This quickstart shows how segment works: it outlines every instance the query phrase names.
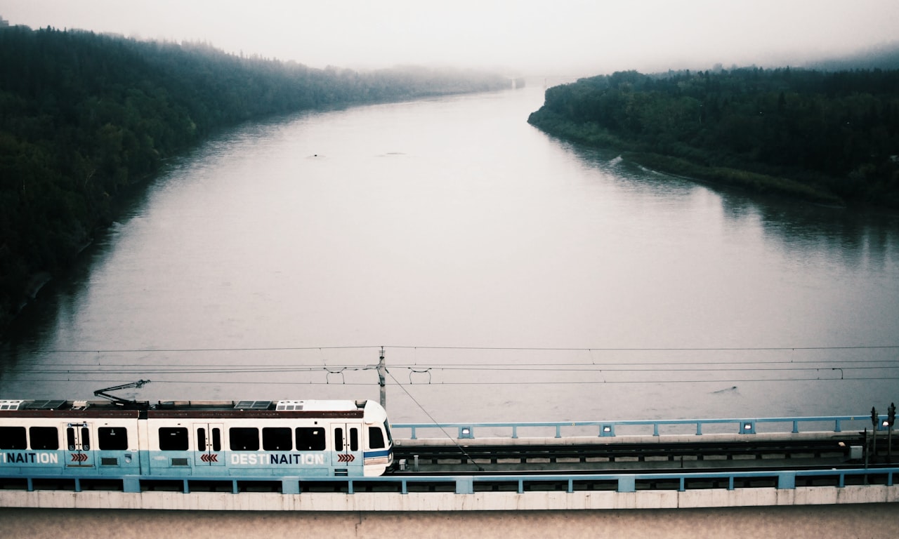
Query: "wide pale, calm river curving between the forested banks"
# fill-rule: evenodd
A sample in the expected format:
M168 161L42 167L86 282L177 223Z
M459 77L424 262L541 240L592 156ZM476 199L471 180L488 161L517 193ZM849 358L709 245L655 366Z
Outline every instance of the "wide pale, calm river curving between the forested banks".
M645 171L543 88L310 112L169 163L4 338L0 398L378 399L405 421L899 400L899 220Z

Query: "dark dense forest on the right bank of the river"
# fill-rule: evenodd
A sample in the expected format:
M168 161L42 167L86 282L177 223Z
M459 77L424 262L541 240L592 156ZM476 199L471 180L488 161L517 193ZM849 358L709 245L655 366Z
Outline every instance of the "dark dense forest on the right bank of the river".
M654 170L899 208L899 71L636 71L549 88L530 123Z

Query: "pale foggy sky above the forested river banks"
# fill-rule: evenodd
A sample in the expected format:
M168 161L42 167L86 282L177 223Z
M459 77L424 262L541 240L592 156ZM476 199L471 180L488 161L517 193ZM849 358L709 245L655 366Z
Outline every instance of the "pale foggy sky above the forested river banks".
M0 0L0 16L313 67L797 66L899 40L897 0Z

